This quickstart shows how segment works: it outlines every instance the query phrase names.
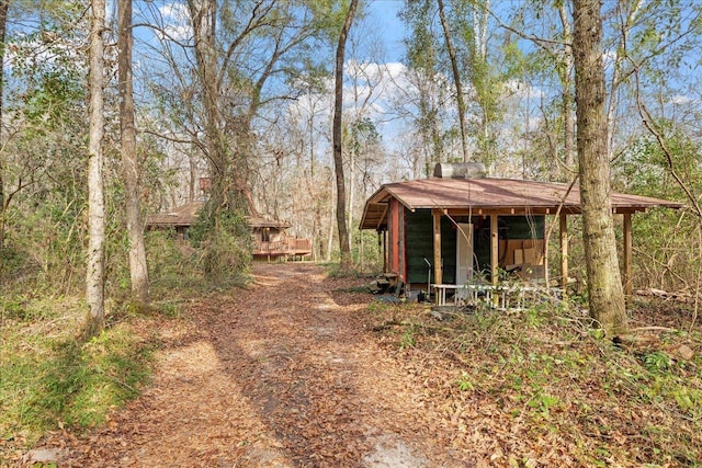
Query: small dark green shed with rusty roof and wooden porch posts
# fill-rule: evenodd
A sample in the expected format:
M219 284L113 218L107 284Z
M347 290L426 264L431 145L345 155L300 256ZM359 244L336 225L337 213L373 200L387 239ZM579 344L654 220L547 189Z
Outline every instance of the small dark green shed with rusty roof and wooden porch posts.
M559 283L566 286L566 220L581 214L577 184L491 179L482 176L482 171L455 170L446 164L438 165L434 174L444 176L384 184L365 203L360 228L381 236L386 273L398 275L412 288L426 285L427 290L432 284L461 286L476 274L497 286L499 269L548 277L544 242L546 227L555 216ZM632 215L682 205L612 193L611 206L612 213L623 218L623 282L630 298Z

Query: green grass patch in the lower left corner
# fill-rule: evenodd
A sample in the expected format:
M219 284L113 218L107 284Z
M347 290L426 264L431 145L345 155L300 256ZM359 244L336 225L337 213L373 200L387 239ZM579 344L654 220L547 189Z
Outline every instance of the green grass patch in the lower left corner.
M33 444L60 426L87 429L135 398L148 381L158 343L145 320L111 320L81 342L81 301L27 301L21 316L2 305L0 436ZM36 312L35 312L36 311Z

